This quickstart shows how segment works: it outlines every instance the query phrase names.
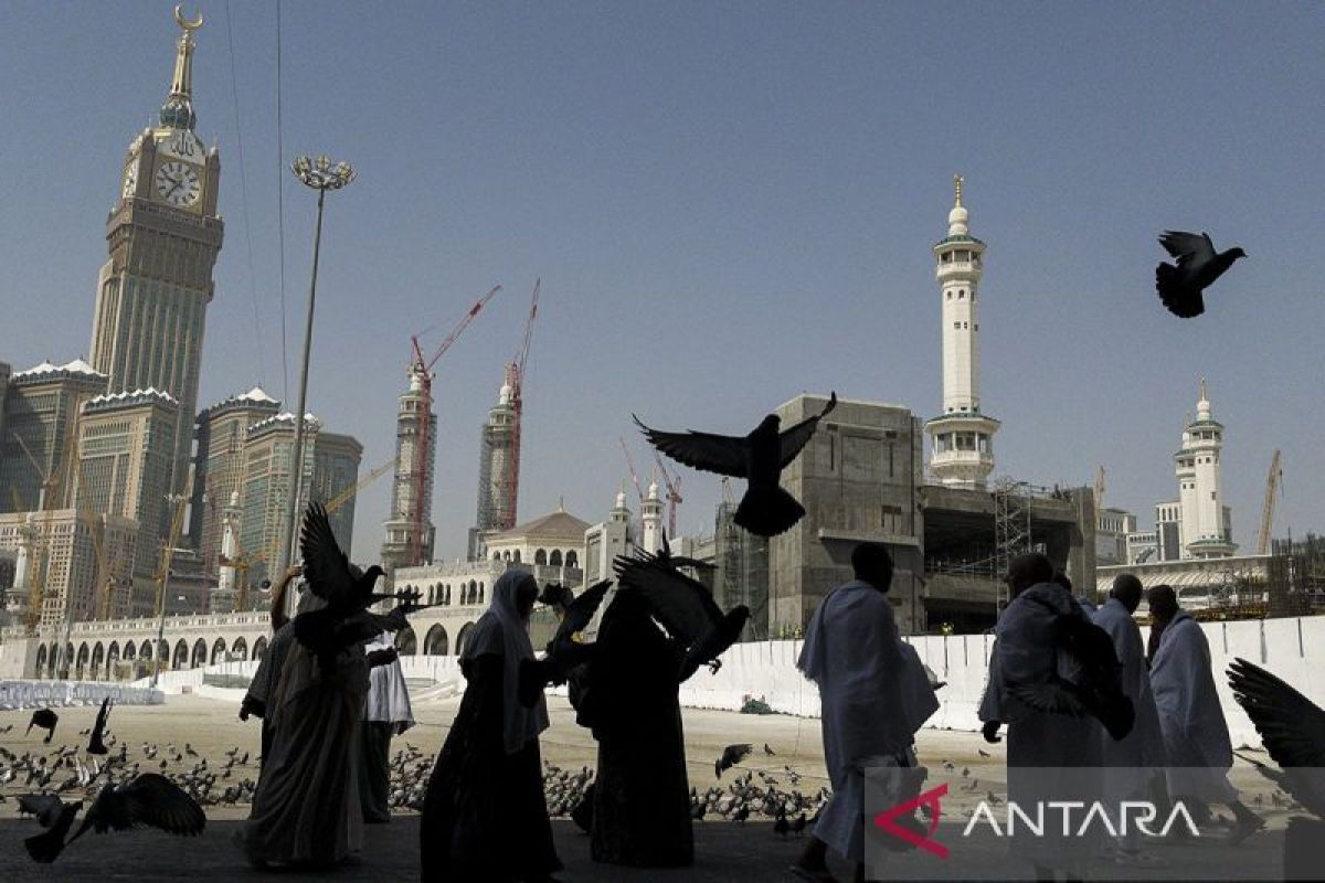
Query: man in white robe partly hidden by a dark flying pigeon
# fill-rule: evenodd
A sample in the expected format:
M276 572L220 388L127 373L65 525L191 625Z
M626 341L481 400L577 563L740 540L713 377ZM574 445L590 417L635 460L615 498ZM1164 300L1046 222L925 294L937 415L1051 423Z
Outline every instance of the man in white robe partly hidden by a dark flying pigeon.
M1086 614L1071 592L1053 581L1053 565L1044 555L1016 556L1004 579L1012 600L995 627L979 715L990 743L1000 741L999 725L1007 724L1008 800L1028 812L1035 812L1043 801L1093 800L1098 777L1089 770L1100 765L1098 724L1090 718L1037 711L1008 692L1012 687L1040 684L1052 678L1071 680L1077 673L1073 663L1059 654L1057 621L1060 617L1085 620ZM1034 772L1037 768L1072 769L1075 773L1071 778L1057 777L1053 788L1045 790L1047 774ZM1053 879L1055 870L1069 878L1080 876L1093 845L1056 839L1049 829L1052 826L1047 826L1045 837L1010 837L1008 846L1035 866L1040 879Z

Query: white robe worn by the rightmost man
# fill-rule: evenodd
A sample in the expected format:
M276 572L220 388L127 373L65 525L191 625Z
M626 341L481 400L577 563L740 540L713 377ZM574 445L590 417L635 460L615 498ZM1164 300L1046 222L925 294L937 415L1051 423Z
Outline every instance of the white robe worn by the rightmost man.
M1234 748L1215 692L1210 642L1185 610L1159 635L1150 684L1163 731L1169 794L1216 804L1238 800L1227 776Z

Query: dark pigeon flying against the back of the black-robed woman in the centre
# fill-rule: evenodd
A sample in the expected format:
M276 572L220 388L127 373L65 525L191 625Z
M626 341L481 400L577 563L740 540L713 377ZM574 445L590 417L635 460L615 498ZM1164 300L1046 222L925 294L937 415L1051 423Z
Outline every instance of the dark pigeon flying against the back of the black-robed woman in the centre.
M750 618L750 608L738 604L723 613L709 586L681 573L672 563L648 552L612 561L621 592L639 592L653 617L685 647L677 674L685 680L704 665L717 673L718 657L735 643Z

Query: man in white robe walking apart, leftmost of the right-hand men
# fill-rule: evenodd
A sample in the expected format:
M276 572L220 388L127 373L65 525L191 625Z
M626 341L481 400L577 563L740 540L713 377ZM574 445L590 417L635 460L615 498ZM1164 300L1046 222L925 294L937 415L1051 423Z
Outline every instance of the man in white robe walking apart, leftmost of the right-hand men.
M828 849L855 862L855 878L864 880L864 772L914 768L916 731L938 710L920 657L897 633L886 547L861 543L851 563L856 579L829 592L815 610L796 662L819 687L832 781L814 837L791 866L792 874L812 882L832 880Z

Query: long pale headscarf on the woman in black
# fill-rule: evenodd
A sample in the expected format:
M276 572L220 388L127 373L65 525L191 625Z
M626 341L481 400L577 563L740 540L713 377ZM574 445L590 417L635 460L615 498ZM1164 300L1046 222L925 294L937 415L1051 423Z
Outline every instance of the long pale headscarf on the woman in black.
M502 741L507 755L514 755L530 739L549 727L547 703L539 691L538 702L526 708L519 702L519 663L534 658L534 647L529 642L529 621L521 618L515 604L517 589L525 580L534 577L526 571L506 571L493 584L493 602L484 613L474 633L465 642L461 659L474 659L484 654L497 653L502 657Z

